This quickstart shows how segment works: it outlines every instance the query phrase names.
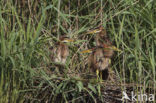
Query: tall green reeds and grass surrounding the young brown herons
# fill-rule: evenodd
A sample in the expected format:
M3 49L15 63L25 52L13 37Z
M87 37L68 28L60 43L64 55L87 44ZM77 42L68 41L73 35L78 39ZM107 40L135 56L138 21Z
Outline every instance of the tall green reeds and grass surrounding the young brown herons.
M155 10L154 0L1 0L0 103L104 102L107 86L82 76L89 68L80 53L95 46L85 33L99 25L123 51L111 65L119 87L155 94ZM63 34L76 41L60 74L48 48Z

